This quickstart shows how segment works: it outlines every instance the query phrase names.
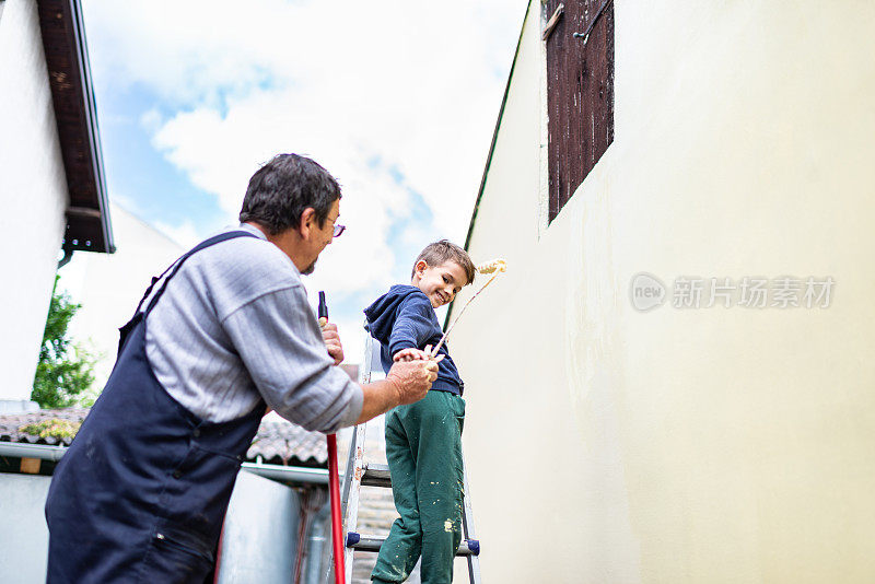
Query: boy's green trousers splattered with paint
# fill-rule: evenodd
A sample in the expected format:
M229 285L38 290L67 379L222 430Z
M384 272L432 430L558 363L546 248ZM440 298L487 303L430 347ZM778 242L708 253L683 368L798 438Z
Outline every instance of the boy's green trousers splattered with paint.
M423 584L453 581L462 541L464 421L465 401L438 390L386 414L386 457L400 517L380 550L373 582L404 582L420 554Z

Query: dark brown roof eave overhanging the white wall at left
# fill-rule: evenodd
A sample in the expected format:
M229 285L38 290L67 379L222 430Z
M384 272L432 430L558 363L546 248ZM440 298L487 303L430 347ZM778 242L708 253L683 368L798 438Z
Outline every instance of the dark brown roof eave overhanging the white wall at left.
M61 159L70 205L66 252L115 252L94 90L79 0L38 0Z

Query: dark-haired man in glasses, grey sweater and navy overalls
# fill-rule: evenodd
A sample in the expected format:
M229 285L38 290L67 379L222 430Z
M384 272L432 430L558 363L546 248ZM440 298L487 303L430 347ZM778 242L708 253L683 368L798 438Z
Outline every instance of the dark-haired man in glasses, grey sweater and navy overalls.
M342 232L339 214L328 172L278 155L249 180L241 226L153 281L55 471L49 583L201 583L267 408L334 432L424 397L434 361L363 387L334 366L337 328L320 332L300 273Z

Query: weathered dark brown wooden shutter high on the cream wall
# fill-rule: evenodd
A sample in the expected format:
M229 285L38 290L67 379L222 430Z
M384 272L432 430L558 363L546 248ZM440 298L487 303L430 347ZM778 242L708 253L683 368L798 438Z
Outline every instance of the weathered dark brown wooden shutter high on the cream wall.
M614 0L549 0L549 221L614 141ZM574 36L574 34L579 36Z

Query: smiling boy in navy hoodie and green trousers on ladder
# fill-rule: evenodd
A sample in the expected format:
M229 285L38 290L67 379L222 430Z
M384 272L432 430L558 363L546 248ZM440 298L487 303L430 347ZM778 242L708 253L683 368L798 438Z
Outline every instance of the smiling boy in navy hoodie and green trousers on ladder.
M429 244L413 265L412 285L393 285L364 311L384 371L394 361L428 359L428 348L443 335L434 308L450 303L474 273L459 246L446 240ZM371 574L376 584L407 580L420 553L423 584L453 580L462 540L464 384L446 343L439 353L438 379L428 395L386 413L386 457L400 517Z

